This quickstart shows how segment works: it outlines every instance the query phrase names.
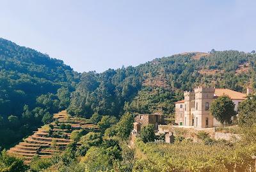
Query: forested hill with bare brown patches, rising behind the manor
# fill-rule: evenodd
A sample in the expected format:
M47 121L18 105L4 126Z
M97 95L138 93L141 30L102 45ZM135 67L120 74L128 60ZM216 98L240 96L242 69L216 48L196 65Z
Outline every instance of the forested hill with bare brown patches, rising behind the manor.
M137 67L109 69L104 73L83 73L72 93L68 111L72 115L122 116L135 113L171 115L174 102L184 90L198 85L245 92L255 87L256 54L212 50L163 57Z

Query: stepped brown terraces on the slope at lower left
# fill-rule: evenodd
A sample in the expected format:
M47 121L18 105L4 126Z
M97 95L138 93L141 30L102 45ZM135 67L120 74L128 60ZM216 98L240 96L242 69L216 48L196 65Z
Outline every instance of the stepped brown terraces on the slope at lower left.
M70 117L67 111L61 111L54 114L54 122L38 128L33 135L10 148L8 154L23 157L27 164L35 155L41 158L52 157L72 142L70 134L76 129L92 131L97 130L97 125L90 124L86 118Z

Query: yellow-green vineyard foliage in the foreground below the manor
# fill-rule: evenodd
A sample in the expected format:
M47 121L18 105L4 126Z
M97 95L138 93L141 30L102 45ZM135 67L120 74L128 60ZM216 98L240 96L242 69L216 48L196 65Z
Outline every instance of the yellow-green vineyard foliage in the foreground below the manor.
M137 142L136 152L134 171L248 171L255 164L256 146Z

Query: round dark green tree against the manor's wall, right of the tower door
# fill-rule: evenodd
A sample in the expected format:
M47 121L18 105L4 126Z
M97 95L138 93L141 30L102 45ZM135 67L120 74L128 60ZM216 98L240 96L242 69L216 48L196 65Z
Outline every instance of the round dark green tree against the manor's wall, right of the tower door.
M231 117L236 115L235 104L228 96L220 96L211 103L211 115L221 124L230 123Z

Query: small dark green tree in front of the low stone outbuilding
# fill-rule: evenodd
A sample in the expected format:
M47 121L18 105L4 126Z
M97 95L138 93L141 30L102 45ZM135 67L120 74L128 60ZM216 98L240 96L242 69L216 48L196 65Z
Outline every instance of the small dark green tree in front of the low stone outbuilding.
M154 141L156 138L156 134L154 131L154 125L148 124L141 129L140 138L144 143L149 141Z

